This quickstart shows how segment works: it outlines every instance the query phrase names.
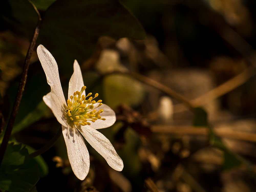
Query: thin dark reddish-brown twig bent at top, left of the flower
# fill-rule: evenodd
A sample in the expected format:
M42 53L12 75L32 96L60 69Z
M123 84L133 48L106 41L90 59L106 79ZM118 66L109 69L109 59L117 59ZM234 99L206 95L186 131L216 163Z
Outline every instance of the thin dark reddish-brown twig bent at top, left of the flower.
M33 5L33 3L32 3L32 5ZM27 55L26 55L26 58L25 58L24 66L23 66L22 77L20 79L19 88L18 88L18 92L17 92L16 99L15 99L15 102L14 102L13 110L12 110L12 113L10 115L10 119L9 119L9 122L7 124L7 127L6 127L6 131L4 133L2 144L0 146L0 165L2 163L2 160L3 160L3 157L4 157L4 153L5 153L10 135L12 133L15 118L16 118L17 113L18 113L19 104L20 104L22 94L23 94L23 91L24 91L24 87L25 87L25 84L26 84L26 80L27 80L27 72L28 72L28 67L29 67L29 64L30 64L30 59L31 59L33 50L35 48L35 44L36 44L36 40L37 40L37 37L38 37L39 29L40 29L40 26L41 26L41 21L42 21L41 16L40 16L39 12L37 11L36 7L34 5L33 5L33 7L35 8L35 10L38 14L38 24L36 26L33 38L31 40L29 48L28 48L28 52L27 52Z

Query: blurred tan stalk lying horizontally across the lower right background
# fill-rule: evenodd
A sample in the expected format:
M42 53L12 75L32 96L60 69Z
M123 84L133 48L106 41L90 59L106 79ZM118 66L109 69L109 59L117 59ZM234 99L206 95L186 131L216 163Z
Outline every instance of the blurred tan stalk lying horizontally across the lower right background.
M209 129L207 127L196 127L195 129L195 127L193 126L153 125L151 126L151 131L154 133L209 135ZM220 137L256 142L255 133L246 133L241 131L231 131L223 129L214 129L214 133Z

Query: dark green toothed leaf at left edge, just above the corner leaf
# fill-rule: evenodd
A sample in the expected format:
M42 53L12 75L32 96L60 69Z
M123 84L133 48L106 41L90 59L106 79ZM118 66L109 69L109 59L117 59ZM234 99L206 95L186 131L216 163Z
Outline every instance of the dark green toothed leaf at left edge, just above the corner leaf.
M15 170L28 162L28 150L25 146L22 147L22 144L14 145L14 143L9 143L0 167L0 172Z

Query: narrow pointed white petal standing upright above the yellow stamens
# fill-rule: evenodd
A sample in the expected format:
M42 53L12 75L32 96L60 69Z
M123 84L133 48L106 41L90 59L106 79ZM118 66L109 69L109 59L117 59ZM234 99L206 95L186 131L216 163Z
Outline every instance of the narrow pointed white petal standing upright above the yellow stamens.
M76 91L81 91L81 88L84 86L83 84L83 77L80 66L77 60L74 61L74 73L72 74L69 80L69 87L68 87L68 97L73 95ZM85 91L83 92L85 94Z

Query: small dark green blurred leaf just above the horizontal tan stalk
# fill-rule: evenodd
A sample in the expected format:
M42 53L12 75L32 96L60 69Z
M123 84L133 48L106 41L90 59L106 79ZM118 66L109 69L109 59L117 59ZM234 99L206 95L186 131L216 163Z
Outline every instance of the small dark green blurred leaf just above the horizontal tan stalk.
M208 126L207 112L201 107L194 108L194 111L193 126Z

